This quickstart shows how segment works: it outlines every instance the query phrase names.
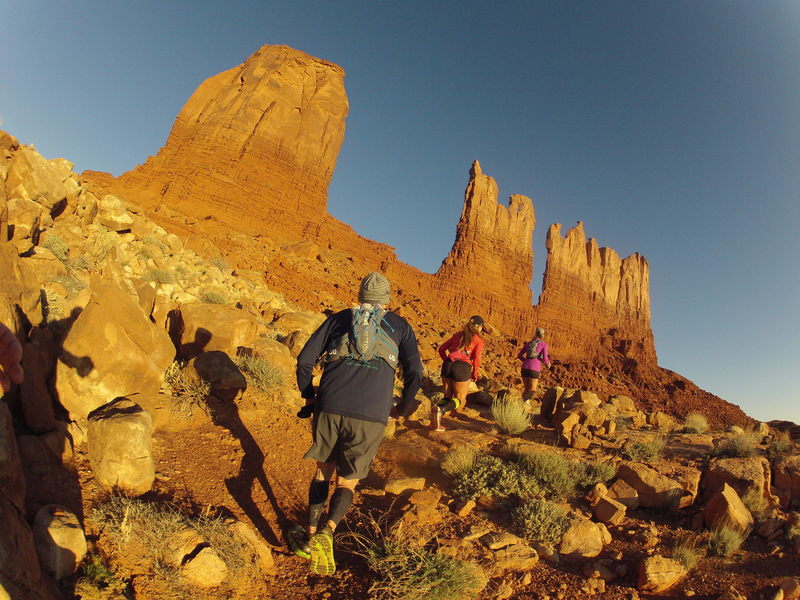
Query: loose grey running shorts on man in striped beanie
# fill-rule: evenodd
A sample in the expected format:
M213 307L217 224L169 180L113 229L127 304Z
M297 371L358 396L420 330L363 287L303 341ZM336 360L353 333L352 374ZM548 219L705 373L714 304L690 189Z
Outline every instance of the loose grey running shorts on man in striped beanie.
M314 442L303 458L336 462L339 477L364 479L385 430L382 423L320 412L314 416Z

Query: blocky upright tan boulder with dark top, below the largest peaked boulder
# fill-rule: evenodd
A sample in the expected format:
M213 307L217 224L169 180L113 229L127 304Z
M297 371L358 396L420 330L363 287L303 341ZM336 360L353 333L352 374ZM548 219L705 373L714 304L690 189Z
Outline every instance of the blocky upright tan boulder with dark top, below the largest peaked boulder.
M89 415L89 461L97 481L131 494L150 491L155 463L150 414L120 398Z

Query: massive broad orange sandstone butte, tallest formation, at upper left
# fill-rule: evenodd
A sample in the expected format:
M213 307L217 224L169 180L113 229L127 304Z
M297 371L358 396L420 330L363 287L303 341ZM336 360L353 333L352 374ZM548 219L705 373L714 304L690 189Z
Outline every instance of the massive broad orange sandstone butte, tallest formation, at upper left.
M257 217L302 233L325 214L348 108L343 69L264 46L200 85L156 156L116 182L95 177L144 207L191 206L202 216Z

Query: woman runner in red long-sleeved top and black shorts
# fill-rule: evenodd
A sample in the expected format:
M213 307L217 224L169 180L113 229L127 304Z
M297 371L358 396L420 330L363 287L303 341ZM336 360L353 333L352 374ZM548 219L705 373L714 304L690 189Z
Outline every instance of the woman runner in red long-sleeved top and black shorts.
M444 431L442 415L458 409L467 402L469 382L478 380L478 367L483 354L483 317L470 317L464 330L439 346L442 363L444 399L431 407L431 429Z

